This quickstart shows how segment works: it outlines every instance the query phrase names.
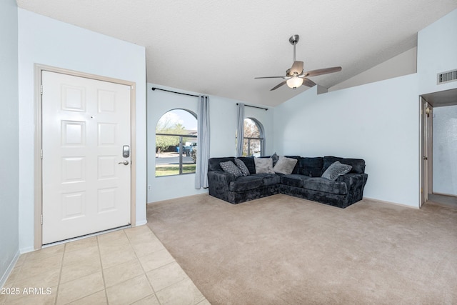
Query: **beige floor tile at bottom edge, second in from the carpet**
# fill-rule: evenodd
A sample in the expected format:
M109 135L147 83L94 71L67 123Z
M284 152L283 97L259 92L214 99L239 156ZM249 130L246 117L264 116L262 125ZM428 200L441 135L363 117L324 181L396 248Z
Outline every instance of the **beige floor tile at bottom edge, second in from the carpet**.
M131 304L154 294L146 275L136 276L106 289L110 305Z

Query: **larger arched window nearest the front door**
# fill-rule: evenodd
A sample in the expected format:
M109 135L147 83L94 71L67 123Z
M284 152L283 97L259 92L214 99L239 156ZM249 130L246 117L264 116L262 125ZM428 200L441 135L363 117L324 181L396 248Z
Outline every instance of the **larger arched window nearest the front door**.
M156 176L194 174L197 148L197 116L173 109L156 125Z

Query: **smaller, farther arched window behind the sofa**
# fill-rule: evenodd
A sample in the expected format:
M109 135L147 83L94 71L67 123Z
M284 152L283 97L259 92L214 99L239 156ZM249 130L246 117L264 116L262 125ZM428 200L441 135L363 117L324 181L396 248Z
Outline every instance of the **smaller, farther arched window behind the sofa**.
M262 124L253 118L244 119L243 156L263 156L264 135Z

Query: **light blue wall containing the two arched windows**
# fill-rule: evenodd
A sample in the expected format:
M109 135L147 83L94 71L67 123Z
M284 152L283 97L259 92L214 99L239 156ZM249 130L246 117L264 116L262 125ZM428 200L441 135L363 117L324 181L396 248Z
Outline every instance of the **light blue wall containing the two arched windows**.
M195 92L148 84L148 184L151 185L151 191L148 191L148 202L207 193L206 189L194 188L194 174L156 177L155 130L157 121L171 109L187 109L197 113L198 99L166 91L152 91L153 86L198 95ZM210 156L235 156L236 103L240 101L210 96L209 102ZM266 154L273 154L273 111L246 107L245 116L253 117L261 122L266 134Z

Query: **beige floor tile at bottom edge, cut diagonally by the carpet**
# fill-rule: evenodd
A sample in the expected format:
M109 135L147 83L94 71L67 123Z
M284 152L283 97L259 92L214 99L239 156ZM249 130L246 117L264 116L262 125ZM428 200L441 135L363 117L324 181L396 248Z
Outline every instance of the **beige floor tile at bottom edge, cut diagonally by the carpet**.
M205 299L191 279L179 281L166 289L156 292L156 295L162 305L195 305Z

